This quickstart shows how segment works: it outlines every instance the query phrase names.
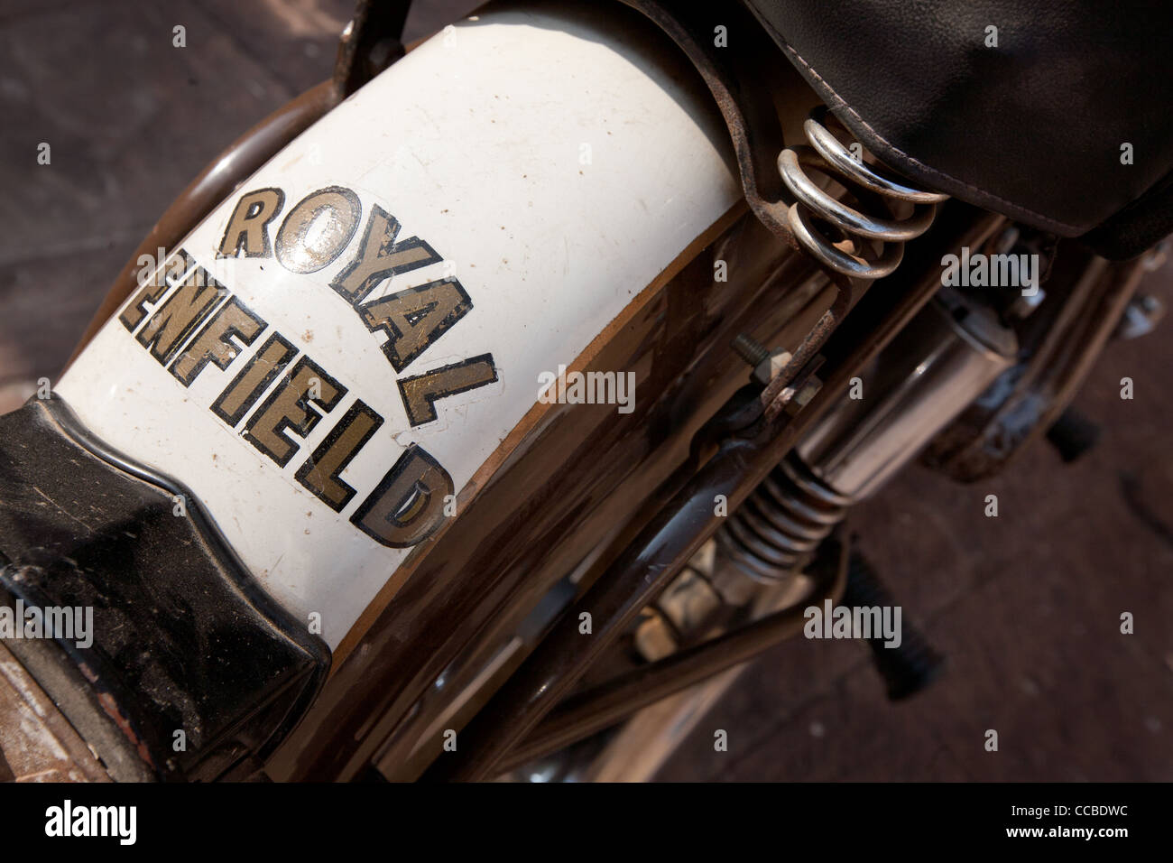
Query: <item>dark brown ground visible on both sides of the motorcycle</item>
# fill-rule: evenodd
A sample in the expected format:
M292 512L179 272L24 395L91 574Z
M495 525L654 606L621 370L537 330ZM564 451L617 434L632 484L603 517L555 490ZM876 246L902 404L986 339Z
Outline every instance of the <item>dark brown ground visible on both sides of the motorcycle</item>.
M418 2L408 38L475 4ZM328 75L348 0L6 0L0 9L0 410L54 379L155 216L224 144ZM187 48L171 46L176 25ZM52 144L52 164L36 148ZM1173 270L1148 279L1169 299ZM1099 447L957 486L913 468L854 527L949 656L889 706L865 648L784 645L672 780L1173 778L1173 338L1116 343L1077 399ZM1135 399L1118 397L1135 380ZM1001 517L982 514L998 495ZM1121 635L1121 612L1135 634ZM713 751L714 729L728 751ZM997 729L999 750L983 748Z

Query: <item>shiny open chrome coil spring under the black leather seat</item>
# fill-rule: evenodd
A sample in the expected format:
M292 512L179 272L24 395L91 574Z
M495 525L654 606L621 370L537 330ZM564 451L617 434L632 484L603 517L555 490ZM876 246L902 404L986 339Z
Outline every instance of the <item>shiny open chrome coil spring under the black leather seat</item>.
M856 160L846 146L827 129L827 108L821 106L811 112L802 130L809 147L788 147L778 155L778 171L782 182L798 201L787 211L787 222L795 240L821 263L836 272L857 278L874 279L887 276L900 265L904 256L904 243L921 236L933 223L936 204L949 196L920 189L907 180L876 166ZM815 168L832 177L860 202L874 202L886 211L886 216L873 216L848 207L827 194L807 176L804 166ZM897 218L889 201L911 203L913 213L907 218ZM829 222L842 232L842 240L850 240L857 254L836 247L836 243L815 227L814 216ZM862 257L862 244L855 238L879 240L883 247L875 261Z

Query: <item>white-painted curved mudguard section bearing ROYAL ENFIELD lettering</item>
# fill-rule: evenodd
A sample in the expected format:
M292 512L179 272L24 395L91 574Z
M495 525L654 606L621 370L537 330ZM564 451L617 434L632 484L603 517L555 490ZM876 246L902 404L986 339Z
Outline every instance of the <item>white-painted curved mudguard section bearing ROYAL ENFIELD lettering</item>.
M290 143L56 386L332 648L491 476L543 372L740 198L653 26L538 6L446 28Z

